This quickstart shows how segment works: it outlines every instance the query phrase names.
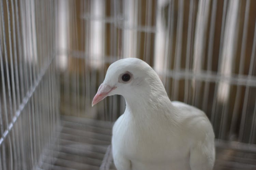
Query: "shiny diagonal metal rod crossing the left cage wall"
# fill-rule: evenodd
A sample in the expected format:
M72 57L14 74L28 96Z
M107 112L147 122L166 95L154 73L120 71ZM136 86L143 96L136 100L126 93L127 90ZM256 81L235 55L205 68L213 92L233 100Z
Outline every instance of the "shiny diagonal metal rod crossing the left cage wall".
M11 123L8 125L8 129L4 131L2 137L0 138L0 146L2 145L4 139L7 137L7 135L10 133L10 131L13 128L14 123L17 121L17 119L19 118L20 114L22 113L24 107L26 106L26 104L28 103L29 99L31 98L31 96L33 95L35 89L37 88L37 86L39 85L40 81L43 78L43 75L45 74L46 70L48 69L48 67L50 66L50 64L52 63L53 59L55 58L56 55L53 55L51 60L49 60L48 63L46 63L45 67L41 70L37 80L34 82L33 86L30 88L30 90L27 92L27 96L23 99L23 102L19 105L19 109L16 111L15 116L13 116Z

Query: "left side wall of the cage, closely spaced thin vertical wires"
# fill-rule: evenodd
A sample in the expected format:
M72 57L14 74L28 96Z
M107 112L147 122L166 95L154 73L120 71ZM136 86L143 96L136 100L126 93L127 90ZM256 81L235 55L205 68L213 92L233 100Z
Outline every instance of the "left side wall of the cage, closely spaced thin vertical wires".
M0 169L33 169L59 124L56 4L2 0L0 5Z

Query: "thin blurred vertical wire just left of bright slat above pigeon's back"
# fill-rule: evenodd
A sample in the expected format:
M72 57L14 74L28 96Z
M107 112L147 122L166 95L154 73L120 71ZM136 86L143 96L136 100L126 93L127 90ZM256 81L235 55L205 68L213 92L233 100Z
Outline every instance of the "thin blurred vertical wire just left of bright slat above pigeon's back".
M188 31L187 31L187 47L186 47L186 63L185 71L189 72L189 60L191 54L191 34L192 34L192 19L193 19L193 8L194 0L190 0L189 12L188 12ZM189 79L185 79L185 89L184 89L184 102L188 103L188 89L189 89Z

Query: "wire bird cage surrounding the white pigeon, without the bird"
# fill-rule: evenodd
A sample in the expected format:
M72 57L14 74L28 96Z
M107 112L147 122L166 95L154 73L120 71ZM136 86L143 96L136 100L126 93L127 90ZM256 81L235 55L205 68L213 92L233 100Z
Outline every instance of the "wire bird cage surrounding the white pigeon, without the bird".
M122 96L91 101L137 57L202 109L215 170L256 169L256 1L0 0L0 170L115 169Z

